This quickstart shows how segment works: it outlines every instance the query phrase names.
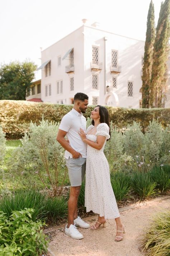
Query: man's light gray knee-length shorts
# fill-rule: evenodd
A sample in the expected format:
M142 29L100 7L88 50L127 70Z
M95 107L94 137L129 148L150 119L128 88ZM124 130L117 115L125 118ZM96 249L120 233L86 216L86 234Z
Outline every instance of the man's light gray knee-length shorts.
M71 187L81 186L81 182L84 180L86 170L86 158L70 158L66 159L66 165L69 169L69 179Z

